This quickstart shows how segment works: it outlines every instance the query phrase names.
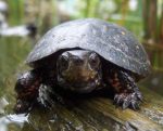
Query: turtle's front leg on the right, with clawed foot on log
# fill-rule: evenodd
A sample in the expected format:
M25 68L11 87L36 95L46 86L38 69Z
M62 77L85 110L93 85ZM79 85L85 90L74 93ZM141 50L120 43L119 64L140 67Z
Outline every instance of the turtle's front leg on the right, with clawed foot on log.
M142 95L134 78L123 70L114 70L112 75L109 81L116 92L114 103L123 109L127 107L138 109Z

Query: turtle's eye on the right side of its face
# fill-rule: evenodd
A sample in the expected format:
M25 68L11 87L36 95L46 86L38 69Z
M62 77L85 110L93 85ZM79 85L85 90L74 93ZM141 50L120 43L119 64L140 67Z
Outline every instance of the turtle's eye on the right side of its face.
M89 65L92 68L98 68L100 64L100 58L96 53L91 53L89 56Z

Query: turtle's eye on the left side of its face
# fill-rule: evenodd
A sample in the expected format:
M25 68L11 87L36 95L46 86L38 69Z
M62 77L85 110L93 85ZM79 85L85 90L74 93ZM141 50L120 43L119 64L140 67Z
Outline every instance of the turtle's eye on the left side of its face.
M59 58L59 66L61 70L65 70L68 67L68 56L67 55L61 55Z

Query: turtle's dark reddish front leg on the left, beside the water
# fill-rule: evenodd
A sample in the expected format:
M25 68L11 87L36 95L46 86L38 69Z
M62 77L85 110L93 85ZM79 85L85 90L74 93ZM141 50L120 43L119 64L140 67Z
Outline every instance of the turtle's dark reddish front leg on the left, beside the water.
M36 70L23 74L15 84L17 93L14 110L16 114L26 113L32 109L38 97L41 78Z

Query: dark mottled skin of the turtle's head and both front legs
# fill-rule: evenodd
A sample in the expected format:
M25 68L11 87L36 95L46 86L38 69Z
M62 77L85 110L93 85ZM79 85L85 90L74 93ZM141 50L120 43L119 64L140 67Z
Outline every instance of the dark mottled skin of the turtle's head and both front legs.
M123 108L137 109L142 100L136 80L129 71L105 63L92 51L64 51L59 55L55 67L50 71L35 68L18 78L15 86L17 114L33 107L39 95L39 87L46 83L58 84L65 90L79 93L89 93L103 86L111 86L115 91L114 103Z

